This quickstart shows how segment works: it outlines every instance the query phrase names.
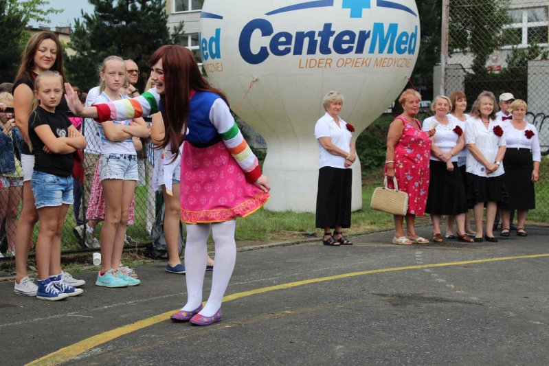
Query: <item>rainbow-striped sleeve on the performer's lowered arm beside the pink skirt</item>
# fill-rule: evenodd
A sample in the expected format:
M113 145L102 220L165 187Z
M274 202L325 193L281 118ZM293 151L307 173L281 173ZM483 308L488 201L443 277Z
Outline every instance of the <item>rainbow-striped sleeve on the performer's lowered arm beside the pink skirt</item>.
M232 127L227 132L221 133L221 139L223 139L232 157L234 157L240 168L244 171L246 180L249 183L257 181L261 176L258 158L251 151L251 148L249 148L234 119Z

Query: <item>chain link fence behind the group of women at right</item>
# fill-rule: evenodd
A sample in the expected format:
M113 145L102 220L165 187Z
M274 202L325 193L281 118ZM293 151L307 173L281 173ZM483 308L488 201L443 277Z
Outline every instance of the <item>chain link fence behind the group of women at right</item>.
M535 185L537 208L530 211L529 220L549 222L549 1L448 4L448 55L445 69L434 69L434 93L440 85L445 95L464 91L469 108L484 90L496 98L512 93L528 103L526 119L539 131L543 155Z

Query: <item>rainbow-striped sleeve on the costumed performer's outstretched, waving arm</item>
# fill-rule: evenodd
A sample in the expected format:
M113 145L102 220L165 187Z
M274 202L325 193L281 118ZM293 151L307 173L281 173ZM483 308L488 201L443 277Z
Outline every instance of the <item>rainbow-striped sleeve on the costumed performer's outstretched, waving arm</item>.
M96 104L97 122L123 121L152 115L159 111L160 95L156 89L150 89L137 98L115 100L113 102Z

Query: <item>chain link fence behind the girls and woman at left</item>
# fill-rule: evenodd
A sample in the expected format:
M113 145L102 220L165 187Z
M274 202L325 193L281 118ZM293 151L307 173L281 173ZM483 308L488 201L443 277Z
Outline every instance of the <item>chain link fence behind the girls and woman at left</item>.
M0 117L5 119L6 114L0 113ZM8 115L9 117L9 115ZM80 164L82 165L81 179L74 179L74 205L71 205L65 218L65 226L61 237L62 250L78 251L81 249L98 249L100 247L99 238L102 227L102 218L97 218L97 212L93 214L94 220L89 220L88 207L90 198L98 201L102 200L102 194L97 192L100 188L98 177L96 176L98 161L101 151L101 141L97 133L97 124L93 119L82 121L80 118L70 118L75 126L82 129L82 133L87 138L88 147L82 152ZM88 129L88 130L87 130ZM89 133L89 131L92 131ZM20 155L12 143L10 133L0 133L0 144L2 144L3 157L9 157L14 163L14 170L2 172L0 174L0 253L4 257L14 255L14 240L16 222L21 214L21 198L23 196L23 173L21 170ZM137 144L139 145L139 144ZM155 222L157 210L162 203L161 194L155 192L153 178L155 176L155 161L159 161L160 152L154 149L153 144L148 141L141 141L141 150L137 152L137 161L139 167L139 181L135 188L135 198L133 204L133 224L128 225L126 231L126 246L146 244L150 242L150 231ZM4 149L10 150L6 153ZM12 154L13 151L13 154ZM78 163L77 163L78 164ZM96 184L94 185L94 177ZM11 187L10 187L11 185ZM95 191L92 193L92 191ZM101 211L101 210L99 210ZM87 222L93 231L86 230L84 226ZM38 236L38 224L35 225L32 242L36 242Z

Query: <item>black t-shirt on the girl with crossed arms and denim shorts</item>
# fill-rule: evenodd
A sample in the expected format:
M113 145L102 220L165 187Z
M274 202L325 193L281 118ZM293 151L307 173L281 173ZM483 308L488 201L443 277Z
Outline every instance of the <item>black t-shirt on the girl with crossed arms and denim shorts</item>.
M29 118L29 138L34 151L34 170L56 176L69 176L72 174L74 158L69 154L47 154L44 152L44 143L36 135L34 128L47 124L52 128L55 137L67 137L71 122L63 113L51 113L41 106L32 111Z

